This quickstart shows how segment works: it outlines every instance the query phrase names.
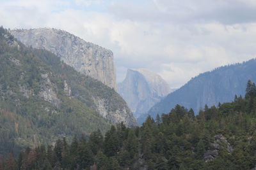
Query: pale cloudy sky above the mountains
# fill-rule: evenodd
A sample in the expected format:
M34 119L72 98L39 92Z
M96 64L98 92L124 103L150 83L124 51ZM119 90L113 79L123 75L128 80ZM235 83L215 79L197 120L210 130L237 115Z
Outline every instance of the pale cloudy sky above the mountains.
M117 81L146 68L177 88L256 56L255 0L0 0L0 25L54 27L113 51Z

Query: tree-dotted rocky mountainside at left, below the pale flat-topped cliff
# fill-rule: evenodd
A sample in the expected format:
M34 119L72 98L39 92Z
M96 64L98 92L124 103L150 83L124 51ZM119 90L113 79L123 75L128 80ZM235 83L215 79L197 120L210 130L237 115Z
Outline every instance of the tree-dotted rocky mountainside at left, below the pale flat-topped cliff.
M0 155L119 122L137 125L114 89L0 27Z

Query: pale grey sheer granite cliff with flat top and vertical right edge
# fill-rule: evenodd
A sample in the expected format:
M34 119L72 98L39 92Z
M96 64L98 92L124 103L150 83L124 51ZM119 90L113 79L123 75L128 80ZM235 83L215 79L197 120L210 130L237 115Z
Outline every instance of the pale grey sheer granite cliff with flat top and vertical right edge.
M49 50L76 71L117 89L113 53L110 50L58 29L17 29L10 33L24 45Z

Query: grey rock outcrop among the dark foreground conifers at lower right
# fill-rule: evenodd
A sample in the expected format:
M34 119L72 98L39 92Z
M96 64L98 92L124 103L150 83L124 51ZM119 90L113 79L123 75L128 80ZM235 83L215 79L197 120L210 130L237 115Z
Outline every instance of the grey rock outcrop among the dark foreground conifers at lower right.
M221 147L224 147L229 154L233 152L232 146L230 145L230 143L228 143L227 139L224 136L216 135L213 136L213 138L214 141L213 143L211 143L211 150L207 150L204 153L205 162L216 159L216 157L218 157L218 152Z

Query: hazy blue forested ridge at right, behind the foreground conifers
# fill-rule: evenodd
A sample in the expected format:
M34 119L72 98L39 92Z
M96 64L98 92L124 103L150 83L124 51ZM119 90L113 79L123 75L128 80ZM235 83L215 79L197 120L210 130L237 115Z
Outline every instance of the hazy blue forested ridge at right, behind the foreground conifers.
M157 113L168 113L176 104L193 108L197 114L200 108L204 108L205 104L212 106L219 102L230 102L235 95L244 96L244 89L249 79L256 81L255 59L240 64L218 67L213 71L199 74L154 105L138 121L143 122L147 115L156 117Z

